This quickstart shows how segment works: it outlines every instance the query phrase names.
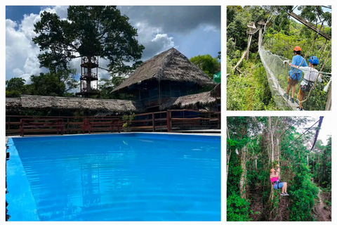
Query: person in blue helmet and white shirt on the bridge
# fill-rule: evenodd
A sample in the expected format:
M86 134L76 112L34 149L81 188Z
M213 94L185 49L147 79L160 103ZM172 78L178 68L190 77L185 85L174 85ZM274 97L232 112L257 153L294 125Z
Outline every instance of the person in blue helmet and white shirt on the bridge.
M315 69L315 66L319 64L319 60L316 56L311 56L309 58L309 67L303 67L303 66L296 66L288 62L288 64L293 68L298 68L298 70L301 70L304 72L304 77L302 82L300 82L300 89L298 90L297 98L300 101L300 106L298 106L297 110L302 111L302 101L303 97L305 96L305 92L310 91L312 89L312 86L315 83L315 80L319 82L322 82L322 74L318 72L318 70Z

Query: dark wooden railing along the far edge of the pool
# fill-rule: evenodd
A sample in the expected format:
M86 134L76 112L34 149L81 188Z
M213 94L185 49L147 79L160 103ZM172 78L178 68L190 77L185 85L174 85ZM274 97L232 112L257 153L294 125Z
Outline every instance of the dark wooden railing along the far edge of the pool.
M131 122L132 131L180 131L220 129L220 112L198 110L167 110L155 113L136 114ZM52 124L54 120L58 124ZM23 122L29 122L29 124ZM124 122L121 116L58 117L6 115L6 136L27 133L61 134L91 133L93 131L121 131ZM62 128L62 129L61 129ZM61 132L62 131L62 132Z

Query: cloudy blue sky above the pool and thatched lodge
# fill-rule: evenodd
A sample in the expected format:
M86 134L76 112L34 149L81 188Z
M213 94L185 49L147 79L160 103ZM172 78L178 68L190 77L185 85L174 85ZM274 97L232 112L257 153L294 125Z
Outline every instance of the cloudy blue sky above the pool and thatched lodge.
M145 61L176 48L187 58L210 54L218 56L220 46L220 6L117 6L129 23L138 30L138 42L143 44ZM67 18L67 6L6 6L6 80L22 77L29 84L31 75L48 72L39 67L39 46L34 23L41 20L40 13L57 13ZM107 61L100 60L107 68ZM80 70L80 59L70 66ZM99 78L109 78L105 70L98 70Z

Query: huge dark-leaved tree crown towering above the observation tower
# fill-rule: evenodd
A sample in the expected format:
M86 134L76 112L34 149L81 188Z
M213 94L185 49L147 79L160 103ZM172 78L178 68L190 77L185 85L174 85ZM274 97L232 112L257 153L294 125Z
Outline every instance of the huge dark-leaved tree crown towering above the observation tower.
M93 57L104 58L112 73L126 72L133 66L125 63L139 60L144 49L136 40L137 30L116 6L70 6L67 20L44 11L34 28L37 37L32 40L43 52L40 65L51 72L66 70L78 57L89 63Z

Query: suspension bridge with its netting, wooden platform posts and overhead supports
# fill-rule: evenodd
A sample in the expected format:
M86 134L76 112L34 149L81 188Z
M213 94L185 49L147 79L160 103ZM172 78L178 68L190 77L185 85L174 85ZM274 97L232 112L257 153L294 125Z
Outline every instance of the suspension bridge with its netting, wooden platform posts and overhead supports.
M306 26L310 27L308 26L308 24ZM277 54L272 53L271 51L265 49L265 46L263 46L263 30L265 30L266 25L263 21L258 22L258 27L256 27L253 22L249 23L248 27L249 27L249 31L247 32L247 34L249 34L249 38L248 38L247 50L243 53L241 60L239 60L239 63L241 63L244 57L248 59L249 46L251 44L252 36L256 32L258 32L258 53L260 56L260 60L263 63L263 67L265 68L265 72L267 73L267 80L270 86L272 97L279 109L296 110L296 108L298 108L298 103L299 103L298 99L297 101L292 103L290 99L286 99L284 97L284 94L286 93L286 86L288 84L287 79L288 79L289 70L290 70L289 65L284 64L284 60L289 60L289 59L283 56L278 56ZM329 38L331 39L329 35L325 34L324 32L320 32L320 29L317 30L317 27L315 26L310 27L310 29L315 30L315 32L317 32L316 37L312 43L312 46L314 46L315 41L318 37L318 34L321 34L324 38L326 38L326 41ZM310 52L311 49L312 47L310 47L309 51L307 51L307 53L305 54L304 56L305 59L307 58L308 53ZM321 49L322 51L325 51L326 45L324 44L324 48L321 48ZM331 53L331 50L329 53ZM319 65L320 70L321 70L319 72L322 74L323 85L320 85L320 86L313 85L312 89L310 89L310 92L306 94L305 100L302 101L305 109L331 110L331 73L322 72L324 65L326 64L326 60L329 58L329 53L327 54L323 65L322 66ZM237 65L234 67L234 70L237 69L239 63L237 63ZM298 82L298 84L299 83L300 81ZM317 82L315 82L315 84L316 83ZM324 91L323 91L323 87L324 87ZM297 97L298 89L299 89L299 85L296 86L296 93L294 94L294 99L296 99ZM317 96L319 96L319 99L320 99L319 101L317 100ZM322 101L322 99L324 99L325 101L324 100Z

